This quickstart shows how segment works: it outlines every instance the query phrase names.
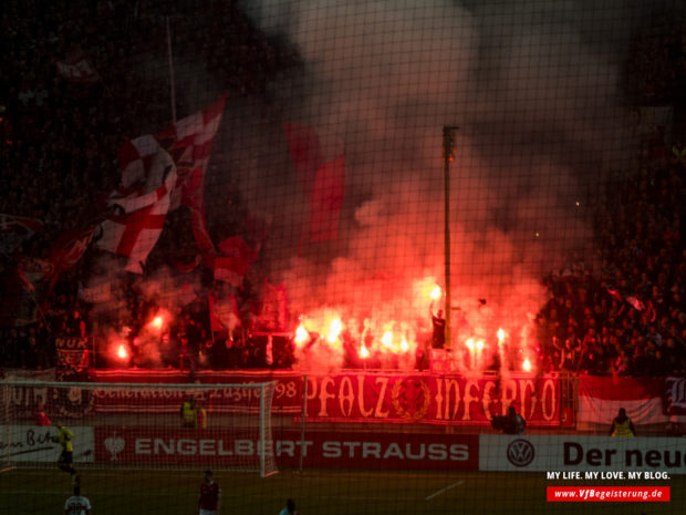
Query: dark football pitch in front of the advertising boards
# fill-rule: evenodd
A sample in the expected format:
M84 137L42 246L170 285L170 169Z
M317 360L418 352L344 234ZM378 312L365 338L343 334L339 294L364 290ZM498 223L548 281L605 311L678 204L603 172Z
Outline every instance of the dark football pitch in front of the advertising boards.
M83 470L82 495L92 515L197 515L201 471ZM545 501L544 473L282 471L215 472L220 514L278 515L285 499L301 515L360 514L683 514L686 477L659 482L671 502ZM554 485L589 485L558 482ZM597 483L595 483L597 485ZM603 486L612 483L602 482ZM626 485L626 483L614 483ZM636 483L636 485L638 485ZM644 482L641 485L657 485ZM0 513L58 515L71 495L70 476L56 470L17 468L0 474Z

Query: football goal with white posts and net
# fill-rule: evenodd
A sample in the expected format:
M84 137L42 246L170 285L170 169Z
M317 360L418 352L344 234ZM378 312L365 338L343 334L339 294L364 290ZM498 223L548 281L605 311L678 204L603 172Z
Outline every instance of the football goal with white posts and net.
M58 428L74 467L277 472L273 382L112 384L9 381L0 385L0 464L54 467Z

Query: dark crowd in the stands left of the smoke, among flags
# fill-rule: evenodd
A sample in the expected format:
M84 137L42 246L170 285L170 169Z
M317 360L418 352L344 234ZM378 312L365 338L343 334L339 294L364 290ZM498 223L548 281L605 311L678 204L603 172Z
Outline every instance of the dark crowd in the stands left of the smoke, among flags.
M46 276L60 235L103 219L105 199L121 178L115 156L122 142L168 125L169 84L150 79L168 75L168 38L176 59L205 63L220 91L264 101L270 78L294 59L226 1L10 1L1 20L0 214L11 215L4 226L13 217L41 223L32 237L0 249L2 311L12 311L19 297L27 297L11 286L17 270L22 278L30 272ZM153 65L163 70L155 75L149 72ZM177 109L187 111L183 96ZM194 245L188 213L172 213L148 266L183 261ZM2 317L0 368L54 367L55 337L84 337L96 329L92 306L80 296L93 262L89 249L49 288L34 281L33 291L31 285L35 322L14 325ZM141 302L135 282L134 278L124 288L127 319L115 322L134 330L153 308ZM211 289L211 277L205 282ZM252 309L248 290L236 292L246 310ZM190 348L199 352L206 334L198 320L207 313L190 315L179 316L172 337L189 334ZM188 326L199 330L187 331ZM239 346L248 347L245 339ZM236 367L258 359L252 349L230 354L227 360Z

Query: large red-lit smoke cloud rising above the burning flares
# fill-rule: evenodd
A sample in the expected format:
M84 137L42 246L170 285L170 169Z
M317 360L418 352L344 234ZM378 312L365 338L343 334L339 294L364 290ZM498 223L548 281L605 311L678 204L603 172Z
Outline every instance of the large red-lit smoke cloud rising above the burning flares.
M285 120L345 145L337 243L303 247L293 236L306 217L302 197L280 206L292 224L273 268L297 313L340 307L427 330L428 302L414 285L444 271L445 125L459 126L450 284L460 338L495 339L498 327L518 338L545 300L542 275L574 254L592 258L597 182L630 157L620 74L637 8L264 0L243 9L302 59L276 84Z

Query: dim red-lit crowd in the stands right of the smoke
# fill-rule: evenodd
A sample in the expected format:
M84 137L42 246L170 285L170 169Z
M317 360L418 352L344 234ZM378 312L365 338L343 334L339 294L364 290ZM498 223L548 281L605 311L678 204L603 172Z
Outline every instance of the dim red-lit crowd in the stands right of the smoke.
M547 278L537 319L542 367L588 374L686 373L684 167L623 177L597 213L600 268Z

